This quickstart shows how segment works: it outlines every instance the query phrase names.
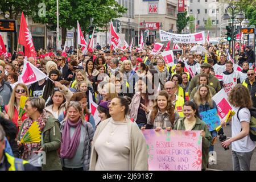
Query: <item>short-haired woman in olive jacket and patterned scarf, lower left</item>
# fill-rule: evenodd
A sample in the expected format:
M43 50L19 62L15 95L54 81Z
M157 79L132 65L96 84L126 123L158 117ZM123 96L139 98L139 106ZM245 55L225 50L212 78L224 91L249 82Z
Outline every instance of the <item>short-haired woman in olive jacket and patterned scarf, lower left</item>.
M22 159L28 160L30 164L37 167L38 170L51 171L61 170L59 148L61 144L61 135L59 121L52 117L47 117L44 111L45 101L40 97L30 97L26 101L25 108L28 118L22 123L18 134L18 146L24 147ZM24 143L20 140L30 129L32 123L37 122L39 130L42 132L42 140L39 143ZM40 152L45 152L45 164L40 163ZM39 162L40 161L40 162Z

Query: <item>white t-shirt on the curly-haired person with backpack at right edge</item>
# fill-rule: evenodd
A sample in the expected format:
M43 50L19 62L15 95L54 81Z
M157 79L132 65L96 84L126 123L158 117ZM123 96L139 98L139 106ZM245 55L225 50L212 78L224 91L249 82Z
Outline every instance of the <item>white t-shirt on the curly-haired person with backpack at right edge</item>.
M234 107L234 111L236 114L232 117L232 137L238 135L241 132L242 126L240 121L242 122L250 122L251 114L249 109L242 108L238 116L240 121L237 118L237 111L240 107ZM250 139L250 135L243 137L240 140L232 142L232 150L235 152L251 152L255 148L255 143Z

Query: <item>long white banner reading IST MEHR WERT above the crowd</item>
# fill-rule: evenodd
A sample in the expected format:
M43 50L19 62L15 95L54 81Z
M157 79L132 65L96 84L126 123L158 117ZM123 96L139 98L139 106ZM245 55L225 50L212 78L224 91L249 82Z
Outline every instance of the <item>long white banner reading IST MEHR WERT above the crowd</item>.
M162 42L172 40L174 43L197 43L203 44L205 42L204 31L195 34L173 34L163 30L159 30L160 40Z

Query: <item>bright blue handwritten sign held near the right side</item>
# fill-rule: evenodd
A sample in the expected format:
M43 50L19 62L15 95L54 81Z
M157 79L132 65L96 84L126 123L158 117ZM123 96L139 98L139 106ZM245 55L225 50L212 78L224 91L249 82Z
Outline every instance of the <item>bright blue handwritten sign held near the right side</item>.
M202 120L207 124L209 131L213 131L220 125L217 109L210 109L200 113Z

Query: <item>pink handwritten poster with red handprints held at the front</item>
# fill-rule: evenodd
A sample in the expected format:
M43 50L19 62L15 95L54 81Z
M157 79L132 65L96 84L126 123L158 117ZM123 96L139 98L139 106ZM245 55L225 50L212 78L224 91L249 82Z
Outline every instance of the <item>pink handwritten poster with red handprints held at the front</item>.
M200 171L200 131L143 130L150 171Z

